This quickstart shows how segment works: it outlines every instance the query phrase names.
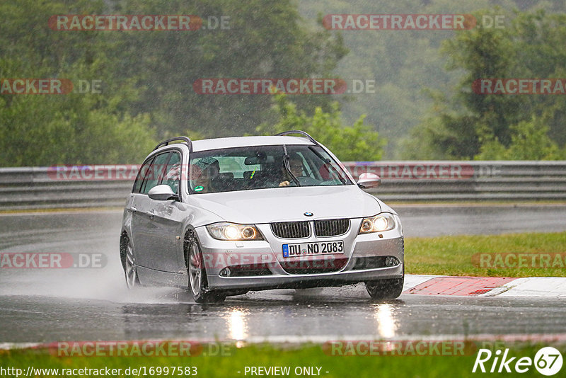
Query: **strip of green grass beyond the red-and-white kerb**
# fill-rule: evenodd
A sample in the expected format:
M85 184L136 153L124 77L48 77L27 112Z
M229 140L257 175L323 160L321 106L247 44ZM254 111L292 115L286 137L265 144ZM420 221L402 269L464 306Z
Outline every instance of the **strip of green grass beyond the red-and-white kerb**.
M566 232L405 239L406 273L566 277Z

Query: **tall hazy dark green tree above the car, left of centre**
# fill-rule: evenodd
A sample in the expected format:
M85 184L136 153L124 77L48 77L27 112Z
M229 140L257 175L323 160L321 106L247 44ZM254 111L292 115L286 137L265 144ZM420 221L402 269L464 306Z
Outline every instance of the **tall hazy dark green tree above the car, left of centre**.
M112 1L115 13L193 14L227 18L229 29L124 33L118 68L143 88L135 112L151 113L161 136L195 130L207 137L251 132L269 120L270 96L199 94L205 78L328 76L347 50L318 25L311 28L291 0ZM328 96L300 96L297 106L328 109Z

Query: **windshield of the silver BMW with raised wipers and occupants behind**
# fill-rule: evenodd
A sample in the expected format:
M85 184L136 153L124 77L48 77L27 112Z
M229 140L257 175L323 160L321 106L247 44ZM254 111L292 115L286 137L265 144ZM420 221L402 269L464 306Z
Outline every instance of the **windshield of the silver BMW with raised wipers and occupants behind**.
M189 170L190 193L353 185L320 146L255 146L192 152Z

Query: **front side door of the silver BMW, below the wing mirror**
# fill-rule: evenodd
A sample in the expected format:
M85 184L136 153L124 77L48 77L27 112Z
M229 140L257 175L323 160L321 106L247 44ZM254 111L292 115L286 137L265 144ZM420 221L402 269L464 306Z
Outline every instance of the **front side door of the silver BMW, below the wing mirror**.
M179 184L181 173L181 154L172 151L159 185L169 185L173 192L180 196ZM182 202L177 200L151 200L150 212L154 214L151 219L153 233L151 251L151 264L156 270L179 273L185 265L180 253L183 248L183 214ZM178 239L179 238L179 239Z

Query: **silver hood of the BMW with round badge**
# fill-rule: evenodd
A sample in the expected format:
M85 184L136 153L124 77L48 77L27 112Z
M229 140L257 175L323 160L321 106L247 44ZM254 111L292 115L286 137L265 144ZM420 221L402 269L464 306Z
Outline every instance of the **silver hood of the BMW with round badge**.
M379 201L357 185L272 188L191 195L190 202L216 214L219 221L260 224L335 217L371 217ZM306 217L305 212L312 212Z

